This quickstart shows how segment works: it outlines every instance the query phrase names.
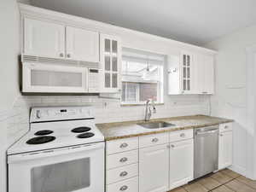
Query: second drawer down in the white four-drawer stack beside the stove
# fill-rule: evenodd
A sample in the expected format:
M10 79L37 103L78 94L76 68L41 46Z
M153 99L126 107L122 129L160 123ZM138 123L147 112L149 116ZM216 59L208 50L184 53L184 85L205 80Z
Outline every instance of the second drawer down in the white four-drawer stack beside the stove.
M127 166L138 161L138 150L127 151L119 154L107 156L107 169L113 169L119 166Z

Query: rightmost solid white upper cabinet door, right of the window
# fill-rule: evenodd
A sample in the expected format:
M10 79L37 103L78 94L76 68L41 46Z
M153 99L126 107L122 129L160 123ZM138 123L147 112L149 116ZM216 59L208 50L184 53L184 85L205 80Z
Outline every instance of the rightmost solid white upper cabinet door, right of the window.
M204 55L204 87L202 92L204 94L214 93L214 59L212 55Z

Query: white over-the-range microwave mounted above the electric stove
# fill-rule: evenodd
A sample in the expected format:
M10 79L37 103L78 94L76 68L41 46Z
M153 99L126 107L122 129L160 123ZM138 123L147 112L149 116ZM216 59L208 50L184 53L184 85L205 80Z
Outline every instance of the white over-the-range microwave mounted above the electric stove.
M24 93L97 93L98 64L22 61Z

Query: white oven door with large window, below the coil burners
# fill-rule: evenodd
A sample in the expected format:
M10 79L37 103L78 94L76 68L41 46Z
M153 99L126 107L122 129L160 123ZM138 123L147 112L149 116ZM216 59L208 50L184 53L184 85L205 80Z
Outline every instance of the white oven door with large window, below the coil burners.
M104 192L104 143L8 157L9 192Z

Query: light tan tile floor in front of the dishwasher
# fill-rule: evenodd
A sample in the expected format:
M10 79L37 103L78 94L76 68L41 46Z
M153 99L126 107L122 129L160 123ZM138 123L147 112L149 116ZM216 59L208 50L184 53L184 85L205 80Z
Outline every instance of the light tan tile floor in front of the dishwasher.
M256 181L230 169L212 173L169 192L256 192Z

